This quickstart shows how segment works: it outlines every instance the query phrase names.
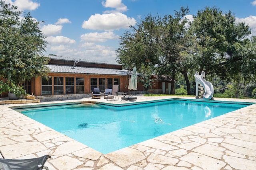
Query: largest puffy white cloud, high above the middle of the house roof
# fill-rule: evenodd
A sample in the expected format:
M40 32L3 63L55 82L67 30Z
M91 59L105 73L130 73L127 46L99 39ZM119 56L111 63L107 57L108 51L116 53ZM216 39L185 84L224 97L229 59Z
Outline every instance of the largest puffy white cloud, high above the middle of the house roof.
M98 30L127 29L129 25L135 25L135 23L136 20L134 18L128 18L122 13L95 14L90 16L87 21L84 21L82 28Z

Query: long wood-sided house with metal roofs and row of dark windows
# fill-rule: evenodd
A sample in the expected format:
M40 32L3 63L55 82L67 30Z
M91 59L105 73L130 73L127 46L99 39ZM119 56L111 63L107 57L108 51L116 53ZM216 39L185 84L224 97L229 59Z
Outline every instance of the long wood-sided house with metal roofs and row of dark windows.
M128 70L122 64L105 61L93 61L50 55L48 68L49 78L37 77L24 83L29 94L34 94L41 102L91 97L92 89L99 87L100 92L112 85L119 85L119 92L128 92ZM162 93L162 82L156 77L156 86L151 93ZM145 89L138 83L136 93L144 93ZM131 94L135 93L133 90ZM2 97L7 97L2 94Z

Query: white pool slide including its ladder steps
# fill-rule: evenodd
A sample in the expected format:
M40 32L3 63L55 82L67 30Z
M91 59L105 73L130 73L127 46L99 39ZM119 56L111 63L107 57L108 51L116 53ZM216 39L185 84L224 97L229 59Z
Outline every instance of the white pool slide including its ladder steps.
M201 75L199 75L199 72L197 71L194 77L196 78L196 98L199 98L200 92L200 98L203 98L205 100L213 99L213 85L211 82L205 80L204 71Z

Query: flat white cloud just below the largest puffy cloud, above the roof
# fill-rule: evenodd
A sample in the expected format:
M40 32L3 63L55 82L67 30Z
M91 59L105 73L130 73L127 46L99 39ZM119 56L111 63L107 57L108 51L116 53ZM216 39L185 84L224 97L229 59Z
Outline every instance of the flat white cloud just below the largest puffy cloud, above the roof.
M116 39L118 35L115 35L112 31L104 33L86 33L81 35L81 40L86 42L105 42L108 39Z

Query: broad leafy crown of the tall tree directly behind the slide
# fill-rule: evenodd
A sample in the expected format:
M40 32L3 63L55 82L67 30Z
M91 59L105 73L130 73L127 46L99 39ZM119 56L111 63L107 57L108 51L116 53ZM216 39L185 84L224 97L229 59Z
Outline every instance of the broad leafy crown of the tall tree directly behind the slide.
M227 66L234 61L240 61L234 56L236 43L250 34L248 25L236 23L234 15L222 12L214 7L198 10L190 27L194 35L194 53L198 63L199 73L203 70L226 77Z

